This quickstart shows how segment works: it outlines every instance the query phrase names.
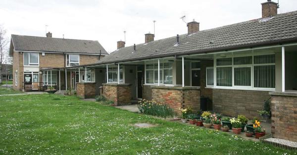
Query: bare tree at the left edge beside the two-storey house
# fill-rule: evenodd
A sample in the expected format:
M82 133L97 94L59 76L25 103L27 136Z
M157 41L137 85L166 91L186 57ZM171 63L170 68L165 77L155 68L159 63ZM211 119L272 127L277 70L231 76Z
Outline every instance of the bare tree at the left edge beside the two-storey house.
M7 44L6 30L0 25L0 83L2 83L2 64L6 54L5 48Z

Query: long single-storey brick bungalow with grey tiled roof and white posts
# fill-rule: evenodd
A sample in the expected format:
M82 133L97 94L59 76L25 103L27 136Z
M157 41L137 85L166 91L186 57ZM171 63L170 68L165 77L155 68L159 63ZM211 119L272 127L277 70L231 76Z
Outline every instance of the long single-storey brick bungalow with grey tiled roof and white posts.
M297 11L277 14L271 0L261 5L259 19L203 31L193 21L187 34L154 40L148 33L142 44L118 41L99 62L52 69L95 69L95 82L77 84L78 95L99 94L102 86L100 94L117 105L154 99L180 112L200 109L207 97L207 110L253 118L272 97L272 132L296 140ZM294 136L281 134L280 123Z

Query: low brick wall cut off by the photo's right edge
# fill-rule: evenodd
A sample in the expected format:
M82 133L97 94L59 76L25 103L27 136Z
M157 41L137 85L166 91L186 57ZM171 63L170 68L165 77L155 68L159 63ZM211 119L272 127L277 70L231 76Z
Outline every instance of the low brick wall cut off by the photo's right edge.
M270 92L271 133L297 142L297 93Z

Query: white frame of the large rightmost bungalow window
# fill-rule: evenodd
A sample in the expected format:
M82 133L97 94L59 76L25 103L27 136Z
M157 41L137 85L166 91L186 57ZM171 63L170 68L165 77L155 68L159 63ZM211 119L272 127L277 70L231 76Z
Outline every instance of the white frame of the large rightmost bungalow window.
M254 64L254 56L264 56L264 55L275 55L273 52L266 52L266 53L252 53L252 54L245 54L245 55L238 55L238 56L229 56L229 57L214 57L214 86L213 88L218 88L218 89L238 89L238 90L258 90L258 91L275 91L275 88L259 88L259 87L254 87L254 66L259 66L259 65L275 65L275 63L261 63L261 64ZM234 65L234 58L236 57L252 57L252 64L238 64ZM224 58L232 58L232 65L220 65L217 66L217 59L224 59ZM217 68L218 67L232 67L232 86L217 86ZM234 68L236 67L251 67L251 86L235 86L234 85ZM207 75L206 75L207 76ZM207 84L207 77L206 77L206 84ZM206 87L209 87L206 85ZM211 87L211 86L210 86Z

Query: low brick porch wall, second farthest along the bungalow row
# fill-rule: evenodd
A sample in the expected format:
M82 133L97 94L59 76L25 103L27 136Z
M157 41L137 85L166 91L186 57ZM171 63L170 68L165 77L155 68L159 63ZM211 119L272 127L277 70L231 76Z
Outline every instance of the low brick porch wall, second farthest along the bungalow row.
M102 84L103 96L117 105L131 104L131 84Z

